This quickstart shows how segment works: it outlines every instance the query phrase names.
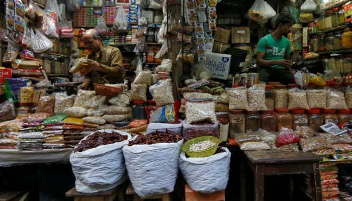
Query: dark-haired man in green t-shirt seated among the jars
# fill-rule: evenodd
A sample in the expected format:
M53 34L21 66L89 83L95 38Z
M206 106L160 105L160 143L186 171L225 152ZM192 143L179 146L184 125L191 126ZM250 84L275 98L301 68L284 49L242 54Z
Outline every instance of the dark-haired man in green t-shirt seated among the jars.
M284 84L293 82L294 77L289 70L292 66L291 42L285 37L293 22L289 13L281 13L275 21L274 32L258 42L256 62L260 81L280 81Z

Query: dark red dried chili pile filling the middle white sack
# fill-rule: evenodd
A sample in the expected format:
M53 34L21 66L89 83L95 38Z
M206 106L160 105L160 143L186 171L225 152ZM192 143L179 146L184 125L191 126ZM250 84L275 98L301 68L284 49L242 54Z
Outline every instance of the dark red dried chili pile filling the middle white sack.
M146 134L146 135L139 135L135 140L130 141L128 146L132 145L141 145L141 144L156 144L156 143L175 143L182 140L183 137L178 135L175 132L167 131L166 132L159 132L156 131L155 133Z

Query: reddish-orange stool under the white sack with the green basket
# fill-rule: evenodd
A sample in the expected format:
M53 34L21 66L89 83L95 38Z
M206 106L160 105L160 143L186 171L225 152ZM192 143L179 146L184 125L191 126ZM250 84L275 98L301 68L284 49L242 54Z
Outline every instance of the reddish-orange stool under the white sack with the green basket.
M186 201L225 201L225 190L213 193L200 193L185 185Z

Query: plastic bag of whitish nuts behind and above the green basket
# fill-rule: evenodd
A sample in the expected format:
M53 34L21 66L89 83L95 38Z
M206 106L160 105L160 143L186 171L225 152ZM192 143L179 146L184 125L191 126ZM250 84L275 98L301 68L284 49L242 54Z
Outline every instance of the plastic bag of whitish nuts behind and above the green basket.
M211 99L189 99L186 103L186 123L203 121L217 122L215 103Z

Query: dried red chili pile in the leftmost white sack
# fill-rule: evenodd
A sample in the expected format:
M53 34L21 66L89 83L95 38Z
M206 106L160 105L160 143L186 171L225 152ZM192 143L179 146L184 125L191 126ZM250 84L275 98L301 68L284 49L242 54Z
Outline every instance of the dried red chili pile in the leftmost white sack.
M100 145L113 144L115 142L122 142L127 140L126 135L121 135L119 133L106 133L106 132L96 132L93 135L88 136L85 140L81 141L73 152L82 152L88 149L96 148Z

